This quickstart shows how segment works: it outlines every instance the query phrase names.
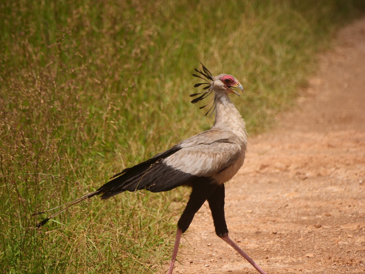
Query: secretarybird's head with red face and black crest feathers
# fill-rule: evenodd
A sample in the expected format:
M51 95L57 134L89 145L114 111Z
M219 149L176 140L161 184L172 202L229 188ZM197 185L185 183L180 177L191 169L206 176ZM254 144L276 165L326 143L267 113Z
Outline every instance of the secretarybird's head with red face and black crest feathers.
M230 94L230 93L234 93L240 96L237 91L233 90L233 88L239 88L240 90L243 91L243 86L234 76L230 74L223 73L217 76L213 76L212 73L208 71L208 69L205 68L203 64L201 64L201 66L203 68L202 70L195 69L195 71L198 72L201 76L196 74L193 74L193 76L203 79L205 83L197 83L194 85L194 87L199 87L200 85L206 85L203 88L203 90L205 91L191 94L190 96L195 97L197 95L200 95L191 101L193 104L195 104L200 100L203 100L204 98L208 97L212 92L215 93L213 98L208 103L210 104L211 102L213 102L211 108L207 111L207 113L205 113L205 115L207 115L212 109L214 111L216 96L219 96L219 94ZM208 106L208 104L200 107L199 109L203 109L204 107Z

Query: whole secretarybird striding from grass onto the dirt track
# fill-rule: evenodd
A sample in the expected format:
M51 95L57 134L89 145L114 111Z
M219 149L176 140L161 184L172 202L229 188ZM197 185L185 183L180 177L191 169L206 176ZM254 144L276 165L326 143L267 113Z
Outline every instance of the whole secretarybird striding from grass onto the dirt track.
M171 274L173 271L182 233L187 231L195 213L205 201L208 201L216 234L241 254L259 273L265 274L265 271L228 237L224 218L224 183L241 168L247 146L245 122L228 95L233 93L239 96L239 93L233 88L243 91L243 87L232 75L213 76L204 65L202 65L202 70L195 69L195 71L200 75L193 74L193 76L199 77L205 82L195 84L194 87L204 84L206 86L203 88L203 92L190 95L197 96L191 102L196 103L213 95L210 103L205 105L211 104L210 110L205 115L215 111L215 121L211 129L181 141L143 163L126 168L114 175L98 190L66 203L65 205L68 205L66 208L39 222L37 227L41 227L50 218L57 216L70 206L95 195L100 194L101 199L107 199L127 190L146 189L160 192L178 186L190 186L192 192L187 206L177 222L176 240L167 273ZM59 207L61 206L57 208Z

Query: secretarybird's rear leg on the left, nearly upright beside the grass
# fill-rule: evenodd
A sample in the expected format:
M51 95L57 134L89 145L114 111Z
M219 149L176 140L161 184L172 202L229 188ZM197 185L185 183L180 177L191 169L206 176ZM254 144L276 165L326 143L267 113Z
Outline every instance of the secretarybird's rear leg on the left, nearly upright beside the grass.
M195 213L201 208L207 198L213 193L216 188L216 184L212 184L210 180L204 180L203 182L197 182L193 184L193 190L191 191L189 201L184 209L183 214L177 222L177 232L174 244L174 250L172 252L172 258L167 274L172 274L174 269L175 260L177 256L177 250L180 244L181 235L187 231L191 224Z

